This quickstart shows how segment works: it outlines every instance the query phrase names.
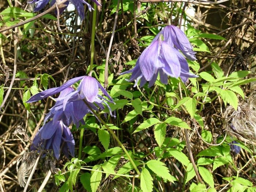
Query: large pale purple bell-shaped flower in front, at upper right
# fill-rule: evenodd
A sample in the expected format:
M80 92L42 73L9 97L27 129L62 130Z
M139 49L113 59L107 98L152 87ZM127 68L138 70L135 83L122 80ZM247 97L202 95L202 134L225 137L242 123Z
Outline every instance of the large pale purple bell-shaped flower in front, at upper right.
M157 80L158 73L162 83L167 84L168 76L181 77L183 82L188 78L197 77L189 73L187 60L175 48L169 45L167 41L162 41L162 35L153 41L140 55L133 69L123 72L120 75L132 73L128 80L135 80L137 85L140 79L140 87L148 81L148 87L153 86Z

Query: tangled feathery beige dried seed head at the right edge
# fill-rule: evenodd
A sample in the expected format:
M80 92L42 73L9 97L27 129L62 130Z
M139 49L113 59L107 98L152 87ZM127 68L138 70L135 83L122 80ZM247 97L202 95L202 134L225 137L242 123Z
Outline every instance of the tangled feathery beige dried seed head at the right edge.
M237 110L228 106L224 113L223 127L238 140L256 146L256 91L253 89L248 102L238 104Z

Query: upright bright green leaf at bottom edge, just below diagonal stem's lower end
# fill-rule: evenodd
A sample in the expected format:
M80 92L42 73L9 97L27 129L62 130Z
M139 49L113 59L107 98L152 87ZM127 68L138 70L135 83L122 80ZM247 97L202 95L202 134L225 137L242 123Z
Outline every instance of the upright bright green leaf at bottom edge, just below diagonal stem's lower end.
M143 192L153 191L153 178L145 167L142 167L140 175L140 188Z

